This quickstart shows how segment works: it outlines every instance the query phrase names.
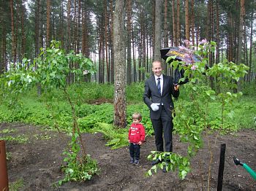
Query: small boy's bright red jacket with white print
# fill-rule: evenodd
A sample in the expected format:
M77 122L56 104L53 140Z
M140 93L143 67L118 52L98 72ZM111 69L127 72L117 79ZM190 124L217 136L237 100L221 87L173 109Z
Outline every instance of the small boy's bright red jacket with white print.
M143 142L145 140L145 129L142 124L135 124L129 128L128 139L130 143L138 144L140 141Z

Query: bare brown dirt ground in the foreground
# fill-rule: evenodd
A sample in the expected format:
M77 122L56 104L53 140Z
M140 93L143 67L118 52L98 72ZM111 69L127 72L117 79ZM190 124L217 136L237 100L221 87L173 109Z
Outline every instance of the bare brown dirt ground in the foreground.
M70 137L43 130L25 124L0 124L0 130L12 129L12 133L0 133L1 136L26 135L29 142L20 144L6 141L10 160L7 161L9 183L23 179L20 190L207 190L207 168L209 162L208 149L204 147L192 160L192 173L184 180L178 179L176 172L158 171L154 176L144 174L151 168L146 159L151 150L155 149L154 137L148 137L141 147L139 165L129 164L128 147L110 149L105 146L102 134L83 134L87 153L99 163L100 174L90 181L69 182L61 187L53 187L64 174L60 166L63 161L61 153ZM1 131L2 132L2 131ZM211 173L211 190L217 190L220 145L226 144L225 171L222 190L256 190L256 181L241 166L233 163L233 155L256 171L256 131L243 130L236 136L221 136L217 139ZM214 141L214 137L210 137ZM178 141L174 135L173 151L182 153L187 150L186 144ZM203 185L203 186L202 186Z

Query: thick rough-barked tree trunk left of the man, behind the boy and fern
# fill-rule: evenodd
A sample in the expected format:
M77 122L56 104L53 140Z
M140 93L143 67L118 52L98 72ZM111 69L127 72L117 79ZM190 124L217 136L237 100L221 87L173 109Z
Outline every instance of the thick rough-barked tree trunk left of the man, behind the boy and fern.
M125 48L124 48L124 0L116 0L114 13L113 36L115 52L115 96L114 125L125 128L127 125Z

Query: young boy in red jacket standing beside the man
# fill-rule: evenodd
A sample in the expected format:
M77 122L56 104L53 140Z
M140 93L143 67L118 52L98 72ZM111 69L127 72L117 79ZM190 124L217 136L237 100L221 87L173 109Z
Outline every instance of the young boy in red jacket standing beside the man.
M129 155L130 163L138 165L140 160L140 145L145 140L145 129L140 123L142 117L140 113L132 114L132 125L129 128Z

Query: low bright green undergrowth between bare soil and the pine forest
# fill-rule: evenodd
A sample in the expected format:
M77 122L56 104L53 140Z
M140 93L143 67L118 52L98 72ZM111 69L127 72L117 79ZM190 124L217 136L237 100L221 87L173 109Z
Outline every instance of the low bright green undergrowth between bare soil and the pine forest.
M204 87L202 88L204 89ZM73 85L69 88L69 91L74 92L71 93L74 100L78 97L80 98L80 101L75 103L75 110L81 130L83 132L91 132L91 130L97 129L99 132L100 128L102 128L101 131L104 134L103 126L113 124L113 104L96 105L88 104L87 101L98 98L112 99L113 85L97 85L93 83ZM202 122L203 117L198 115L197 111L193 108L189 111L191 98L186 97L186 91L187 89L185 87L181 87L181 96L178 98L178 101L175 101L176 108L179 108L179 106L187 107L186 111L199 124ZM57 127L70 132L72 130L72 112L69 104L64 101L63 96L60 92L56 91L51 93L50 98L49 95L45 94L39 97L37 96L37 90L31 90L26 94L20 95L15 103L11 103L8 98L1 98L0 122L25 122L45 126L50 129L56 129ZM140 112L142 114L142 123L146 128L147 135L149 136L154 132L149 118L148 107L143 103L142 97L143 83L132 84L127 87L127 128L116 133L117 137L119 136L118 134L122 133L125 133L125 136L127 136L129 125L132 123L132 113L134 112ZM255 100L256 95L253 91L246 90L245 95L241 96L233 106L228 106L230 107L230 112L225 114L226 122L223 128L226 128L227 131L230 128L231 130L241 128L256 129ZM215 101L209 103L208 107L210 112L210 115L208 115L208 127L217 129L221 125L221 114L219 112L221 104ZM113 131L116 131L116 129L113 129ZM117 140L117 138L108 137L108 139L108 144L113 147L119 147L118 143L111 143L111 139Z

